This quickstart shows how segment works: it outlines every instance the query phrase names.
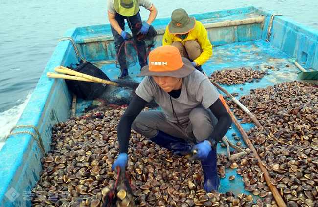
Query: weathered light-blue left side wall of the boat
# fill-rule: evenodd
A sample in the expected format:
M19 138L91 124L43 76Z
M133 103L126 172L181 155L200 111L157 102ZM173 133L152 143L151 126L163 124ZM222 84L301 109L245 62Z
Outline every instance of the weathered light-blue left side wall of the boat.
M71 36L73 31L66 34ZM69 41L60 42L48 62L32 97L27 104L17 125L34 125L42 136L45 151L49 150L51 142L51 127L58 121L68 117L71 94L63 80L52 80L46 77L46 72L52 72L57 65L68 65L75 62L76 54ZM13 132L28 130L15 129ZM0 151L0 204L1 207L31 206L23 199L24 191L30 190L39 179L42 170L40 158L42 153L34 138L29 134L19 134L8 138ZM36 176L34 176L36 175ZM15 202L9 201L4 195L13 187L20 196Z

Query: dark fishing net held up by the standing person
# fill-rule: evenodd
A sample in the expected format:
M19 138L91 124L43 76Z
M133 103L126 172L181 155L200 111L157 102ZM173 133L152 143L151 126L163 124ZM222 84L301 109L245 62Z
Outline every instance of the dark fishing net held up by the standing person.
M128 69L136 65L139 60L141 66L147 65L147 57L151 48L155 47L157 32L153 26L149 27L146 35L140 33L142 23L136 24L133 29L133 37L124 41L117 53L116 67L121 69Z

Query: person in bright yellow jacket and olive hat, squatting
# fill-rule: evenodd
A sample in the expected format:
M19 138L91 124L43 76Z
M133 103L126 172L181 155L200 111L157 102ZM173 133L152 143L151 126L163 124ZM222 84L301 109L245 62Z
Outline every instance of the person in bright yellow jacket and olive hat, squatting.
M172 12L162 45L177 47L181 56L188 58L201 72L203 72L201 65L212 56L212 44L205 27L194 17L189 17L184 9Z

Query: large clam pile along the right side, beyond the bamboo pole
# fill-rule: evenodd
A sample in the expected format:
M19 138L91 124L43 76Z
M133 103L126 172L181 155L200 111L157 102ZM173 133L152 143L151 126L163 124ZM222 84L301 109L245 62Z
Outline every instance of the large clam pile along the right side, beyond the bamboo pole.
M249 139L256 144L271 183L291 207L318 207L317 96L317 87L295 81L252 89L240 99L264 127L250 129ZM250 122L234 103L228 104L240 119ZM262 178L261 172L253 174ZM245 183L250 185L250 178Z

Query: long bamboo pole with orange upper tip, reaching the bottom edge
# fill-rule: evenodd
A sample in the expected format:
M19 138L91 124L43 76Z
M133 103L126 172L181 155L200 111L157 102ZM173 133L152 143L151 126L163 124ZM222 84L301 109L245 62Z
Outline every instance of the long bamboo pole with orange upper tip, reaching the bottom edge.
M223 99L223 98L222 98ZM224 101L224 100L223 100ZM236 119L235 115L233 114L233 112L229 109L229 107L226 105L227 107L227 111L229 112L229 115L231 116L234 124L236 125L237 129L239 130L239 132L241 133L242 137L243 137L243 140L245 142L245 144L249 147L249 149L254 153L258 163L257 165L259 166L259 168L262 170L262 172L264 173L264 178L265 178L265 181L268 185L268 187L270 188L273 196L274 196L274 199L275 201L277 202L277 205L279 207L287 207L283 198L281 197L280 193L278 192L276 186L272 185L271 182L270 182L270 175L268 174L268 171L266 169L265 166L263 166L263 163L262 163L262 160L261 158L259 157L255 147L252 145L252 143L250 142L250 139L248 138L248 135L247 133L244 131L243 127L241 126L241 124L239 123L239 121Z

